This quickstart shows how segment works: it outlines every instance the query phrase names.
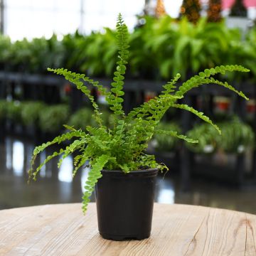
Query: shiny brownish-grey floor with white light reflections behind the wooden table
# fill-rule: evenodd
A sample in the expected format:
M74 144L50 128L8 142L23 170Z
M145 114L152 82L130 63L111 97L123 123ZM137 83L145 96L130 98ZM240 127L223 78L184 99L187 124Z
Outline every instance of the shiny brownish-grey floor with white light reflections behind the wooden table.
M72 158L63 161L60 170L53 160L41 171L38 181L27 184L26 171L33 147L26 139L6 137L0 143L0 209L35 206L49 203L77 203L81 201L87 170L72 179ZM50 153L50 152L48 152ZM41 161L46 154L41 155ZM238 190L217 181L193 178L190 192L181 192L178 175L169 171L159 175L155 201L186 203L216 208L228 208L256 214L256 188ZM94 201L94 196L92 196Z

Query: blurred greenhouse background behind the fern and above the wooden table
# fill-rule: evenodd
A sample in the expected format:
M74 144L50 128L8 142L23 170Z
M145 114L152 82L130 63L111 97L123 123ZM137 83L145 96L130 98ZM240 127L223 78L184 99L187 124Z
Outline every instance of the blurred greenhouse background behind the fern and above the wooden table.
M65 132L63 124L93 124L82 93L46 68L86 73L110 87L119 12L130 33L125 112L155 97L176 73L182 82L215 65L251 70L224 77L247 102L217 85L186 95L186 104L220 126L221 137L190 113L169 110L160 125L201 137L199 144L157 135L148 151L170 168L158 177L157 202L256 214L256 0L0 0L0 209L81 201L88 169L73 179L72 157L60 169L53 159L40 182L27 185L34 146ZM105 97L92 95L108 125Z

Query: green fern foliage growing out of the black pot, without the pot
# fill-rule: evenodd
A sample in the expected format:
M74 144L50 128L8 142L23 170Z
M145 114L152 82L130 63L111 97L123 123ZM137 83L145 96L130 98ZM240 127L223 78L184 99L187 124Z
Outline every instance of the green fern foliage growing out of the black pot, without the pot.
M84 212L87 209L87 203L90 201L95 183L97 183L97 180L102 176L102 169L119 169L124 173L145 168L158 168L161 171L167 169L164 164L156 162L154 155L145 153L148 143L154 134L165 134L183 139L190 143L198 142L198 140L178 134L176 131L159 129L158 124L169 107L176 107L196 114L196 116L211 124L220 133L218 126L213 124L202 112L198 112L188 105L178 103L178 100L182 99L186 92L203 84L214 83L227 87L229 90L233 90L241 97L247 99L242 92L238 92L234 87L228 85L227 82L215 80L213 75L218 73L225 74L227 71L248 72L249 70L240 65L218 66L210 70L204 70L199 73L199 75L193 76L193 78L183 82L178 88L176 88L175 84L181 75L176 75L171 82L167 82L166 85L163 86L163 91L159 96L154 97L139 107L135 107L129 114L124 114L122 106L122 102L124 101L123 87L129 54L127 41L127 26L124 24L121 14L119 14L117 18L118 60L110 91L106 90L99 82L88 78L84 74L72 73L63 68L48 68L50 72L63 75L66 80L73 82L78 90L81 90L85 96L88 97L94 108L93 118L95 119L96 125L95 127L87 125L85 131L66 125L65 128L68 129L68 132L55 137L51 142L36 146L31 160L31 169L28 171L29 179L32 178L36 180L36 176L42 166L50 161L50 159L53 159L53 157L60 157L58 163L58 166L60 166L65 157L72 154L74 151L78 151L78 154L74 158L75 167L73 176L75 176L78 169L83 165L88 163L90 166L90 173L85 183L85 193L82 198L82 209ZM111 119L113 124L111 128L103 124L100 108L95 98L90 94L88 85L96 87L102 95L105 95L110 110L112 110ZM61 144L71 139L73 140L68 146L61 148L59 151L55 151L52 155L48 156L42 164L34 168L35 159L41 151L48 146Z

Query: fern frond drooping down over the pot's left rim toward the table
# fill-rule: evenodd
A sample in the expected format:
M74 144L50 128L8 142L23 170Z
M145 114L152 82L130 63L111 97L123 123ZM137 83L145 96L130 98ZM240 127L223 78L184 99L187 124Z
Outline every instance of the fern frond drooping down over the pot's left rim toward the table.
M83 213L87 210L87 205L90 202L90 196L92 191L95 188L97 180L102 177L101 171L104 168L105 164L110 160L109 155L101 155L95 159L94 163L91 166L91 169L88 174L88 179L85 182L85 193L82 197L82 211Z

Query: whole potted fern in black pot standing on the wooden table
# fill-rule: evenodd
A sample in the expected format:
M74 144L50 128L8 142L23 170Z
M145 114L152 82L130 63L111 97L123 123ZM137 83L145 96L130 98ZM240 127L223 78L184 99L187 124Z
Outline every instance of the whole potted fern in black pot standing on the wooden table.
M156 162L154 155L145 153L153 135L166 134L189 143L198 142L176 131L159 129L157 126L166 110L169 107L176 107L190 111L213 125L220 133L220 129L202 112L177 101L193 87L208 83L227 87L247 99L242 92L238 92L227 82L220 82L212 77L218 73L225 74L227 71L249 71L240 65L228 65L204 70L199 75L183 82L177 89L175 83L180 78L178 74L174 80L163 86L163 91L159 96L135 107L129 114L124 114L122 102L124 101L124 75L129 54L128 36L127 26L119 14L117 18L118 61L110 91L83 74L72 73L63 68L48 69L73 82L78 90L89 98L94 108L92 117L97 125L95 127L88 125L85 131L65 125L68 132L55 137L51 142L36 146L31 160L31 169L28 171L29 178L36 180L38 172L50 159L59 156L58 166L60 166L65 157L78 151L74 159L73 176L85 164L90 166L82 198L82 210L86 212L90 196L96 186L99 231L103 238L113 240L144 239L150 235L155 178L159 170L167 169L164 164ZM100 109L86 84L96 87L102 95L105 95L112 110L112 128L102 124ZM73 141L70 141L71 139ZM55 151L36 169L34 168L35 159L41 151L66 140L70 142L68 146Z

